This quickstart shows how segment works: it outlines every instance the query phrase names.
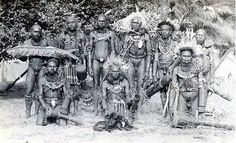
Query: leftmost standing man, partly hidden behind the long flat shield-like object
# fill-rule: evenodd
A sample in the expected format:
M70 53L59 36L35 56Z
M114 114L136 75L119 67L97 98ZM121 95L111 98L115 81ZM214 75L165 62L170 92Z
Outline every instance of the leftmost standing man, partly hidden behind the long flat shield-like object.
M42 28L40 25L35 23L31 28L31 38L26 40L24 45L28 46L41 46L46 47L47 42L42 37ZM32 92L35 85L38 85L38 80L43 74L42 67L45 64L44 59L39 56L29 57L29 66L26 76L26 93L25 93L25 105L26 105L26 118L31 116L31 106L33 103ZM37 102L36 102L37 103ZM37 107L37 105L36 105ZM37 110L37 108L36 108ZM37 111L36 111L37 112Z

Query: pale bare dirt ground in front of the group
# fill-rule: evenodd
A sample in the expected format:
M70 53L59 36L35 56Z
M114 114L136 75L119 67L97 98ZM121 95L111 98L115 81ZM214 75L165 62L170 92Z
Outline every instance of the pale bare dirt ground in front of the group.
M18 91L18 92L16 92ZM45 127L35 125L36 115L25 119L23 96L18 88L12 90L8 98L0 99L0 142L1 143L231 143L234 142L235 131L212 127L174 129L169 126L168 119L161 116L159 96L155 95L140 109L132 131L95 132L93 125L101 121L92 113L80 112L77 117L83 122L81 126L69 123L66 127L49 124ZM16 94L18 93L18 94ZM234 105L228 102L211 101L221 108L216 109L217 118L233 122ZM229 109L229 110L228 110ZM213 117L211 117L212 120Z

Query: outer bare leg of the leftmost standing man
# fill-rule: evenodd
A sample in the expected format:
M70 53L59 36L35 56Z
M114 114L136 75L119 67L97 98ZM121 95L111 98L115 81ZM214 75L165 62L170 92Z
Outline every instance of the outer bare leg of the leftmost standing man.
M29 67L28 68L28 73L26 77L26 93L25 93L25 107L26 107L26 118L30 118L31 114L31 106L32 106L32 91L34 89L35 85L35 74L34 70Z

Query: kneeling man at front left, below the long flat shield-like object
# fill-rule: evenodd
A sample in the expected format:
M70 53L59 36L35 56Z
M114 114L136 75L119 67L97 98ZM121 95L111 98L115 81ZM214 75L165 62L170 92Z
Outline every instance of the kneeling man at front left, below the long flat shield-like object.
M69 112L70 94L65 94L63 77L58 74L59 63L51 58L47 62L47 71L39 80L38 98L40 109L36 124L45 126L49 119L55 120L59 125L67 125L65 116Z

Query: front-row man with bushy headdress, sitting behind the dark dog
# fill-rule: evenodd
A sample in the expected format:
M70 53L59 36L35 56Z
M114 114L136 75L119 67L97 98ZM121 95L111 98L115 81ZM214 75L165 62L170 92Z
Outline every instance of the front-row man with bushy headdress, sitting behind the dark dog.
M132 124L139 101L134 102L131 99L130 84L117 63L110 65L109 72L105 76L102 83L102 98L105 115L116 113L129 118L129 123Z

